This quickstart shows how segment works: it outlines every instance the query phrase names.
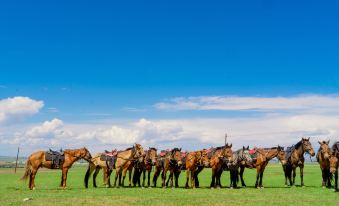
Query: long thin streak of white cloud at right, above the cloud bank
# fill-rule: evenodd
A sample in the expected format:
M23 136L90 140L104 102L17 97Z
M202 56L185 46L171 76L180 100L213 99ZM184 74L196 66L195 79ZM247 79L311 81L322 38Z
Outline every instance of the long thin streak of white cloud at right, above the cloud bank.
M293 111L338 113L339 95L300 95L293 97L200 96L178 97L155 104L160 110Z

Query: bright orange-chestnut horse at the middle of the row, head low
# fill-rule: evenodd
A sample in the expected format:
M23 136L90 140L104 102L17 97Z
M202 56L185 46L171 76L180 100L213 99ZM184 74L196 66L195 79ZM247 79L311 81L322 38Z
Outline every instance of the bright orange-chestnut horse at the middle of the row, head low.
M186 157L186 188L188 188L189 179L191 179L191 187L195 188L195 172L198 167L209 167L210 161L208 159L207 150L190 152Z

